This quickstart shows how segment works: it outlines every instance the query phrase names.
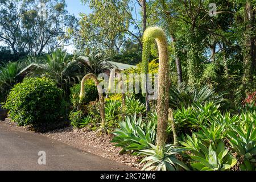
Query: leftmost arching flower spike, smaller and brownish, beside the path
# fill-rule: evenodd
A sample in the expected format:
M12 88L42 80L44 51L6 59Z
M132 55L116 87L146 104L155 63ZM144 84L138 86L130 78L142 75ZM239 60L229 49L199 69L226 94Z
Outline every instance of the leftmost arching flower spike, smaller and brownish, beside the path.
M99 86L100 81L98 80L98 78L93 73L88 73L87 75L85 75L82 78L81 90L80 90L80 95L79 95L80 102L85 97L84 85L85 85L85 81L88 80L88 79L92 79L95 82L95 84L97 86L97 89L98 89L98 98L99 98L99 101L100 101L101 128L104 129L104 131L105 131L105 126L106 126L105 121L106 121L106 119L105 119L105 104L104 104L103 90Z

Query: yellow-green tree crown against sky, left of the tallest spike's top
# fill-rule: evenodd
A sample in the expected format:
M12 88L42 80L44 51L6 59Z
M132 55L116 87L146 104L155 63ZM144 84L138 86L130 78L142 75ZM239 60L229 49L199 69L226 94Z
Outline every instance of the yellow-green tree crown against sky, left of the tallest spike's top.
M136 39L142 50L141 26L138 19L133 16L132 1L81 1L88 3L93 13L81 14L80 30L73 32L80 49L93 44L113 56L119 53L125 40L130 37Z

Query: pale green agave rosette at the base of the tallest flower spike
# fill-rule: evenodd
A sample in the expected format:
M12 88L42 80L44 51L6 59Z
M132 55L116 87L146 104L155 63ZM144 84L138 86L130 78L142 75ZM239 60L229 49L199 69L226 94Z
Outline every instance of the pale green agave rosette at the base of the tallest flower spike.
M148 171L178 171L180 169L189 170L189 168L177 159L176 155L180 155L184 151L172 144L167 144L163 148L159 148L150 144L150 149L140 151L140 154L146 155L141 163L147 162L142 170Z

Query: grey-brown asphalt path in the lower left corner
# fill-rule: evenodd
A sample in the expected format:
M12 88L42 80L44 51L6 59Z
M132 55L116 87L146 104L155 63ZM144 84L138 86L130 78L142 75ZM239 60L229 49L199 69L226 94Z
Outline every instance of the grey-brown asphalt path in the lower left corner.
M44 151L46 164L44 163ZM39 164L41 163L41 164ZM134 170L0 121L0 170Z

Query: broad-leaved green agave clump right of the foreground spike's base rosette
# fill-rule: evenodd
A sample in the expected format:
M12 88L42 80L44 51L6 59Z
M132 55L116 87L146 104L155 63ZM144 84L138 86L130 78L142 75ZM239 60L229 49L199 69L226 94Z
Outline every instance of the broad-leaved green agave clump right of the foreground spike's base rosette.
M225 148L223 126L213 126L199 133L187 135L184 142L180 143L189 150L192 159L191 167L199 171L224 171L236 165L230 151Z

